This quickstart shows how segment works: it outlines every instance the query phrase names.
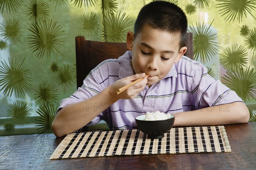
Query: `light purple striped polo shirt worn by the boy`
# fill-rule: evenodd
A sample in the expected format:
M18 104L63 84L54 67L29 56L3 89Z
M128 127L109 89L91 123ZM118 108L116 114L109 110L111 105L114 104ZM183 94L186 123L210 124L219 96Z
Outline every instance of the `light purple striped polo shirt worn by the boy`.
M59 108L89 99L116 80L133 75L131 58L132 52L127 51L118 59L107 59L100 63L84 79L81 88L69 98L61 100ZM103 119L110 129L137 128L135 117L146 111L175 114L237 101L243 102L234 91L209 76L207 68L183 56L162 80L150 88L146 86L134 99L118 100L89 124ZM91 103L87 107L99 109L102 105Z

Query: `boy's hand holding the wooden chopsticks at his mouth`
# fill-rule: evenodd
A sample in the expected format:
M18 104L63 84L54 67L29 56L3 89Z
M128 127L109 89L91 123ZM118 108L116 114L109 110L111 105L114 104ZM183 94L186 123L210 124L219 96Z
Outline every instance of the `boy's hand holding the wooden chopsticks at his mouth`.
M120 94L116 94L116 91L118 91L119 88L122 88L125 85L128 85L131 82L134 82L137 79L143 78L140 82L136 83L135 85L129 87L127 90L123 91ZM110 85L110 94L111 96L117 98L117 99L133 99L135 98L141 91L144 90L145 85L147 84L148 80L145 77L145 73L143 74L135 74L130 77L125 77L123 79L119 79L116 82L114 82L112 85Z

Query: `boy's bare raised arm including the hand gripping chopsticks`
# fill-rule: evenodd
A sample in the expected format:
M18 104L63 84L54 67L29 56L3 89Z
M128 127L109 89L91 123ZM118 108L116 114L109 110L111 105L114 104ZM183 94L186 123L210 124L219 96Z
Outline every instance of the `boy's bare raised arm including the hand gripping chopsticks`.
M140 78L141 76L143 75L136 74L136 76L120 79L90 99L65 106L58 111L52 122L53 133L57 137L72 133L87 125L92 119L99 115L99 113L110 107L110 105L117 100L136 97L137 94L145 88L147 83L146 77L143 81L131 86L119 95L116 95L115 92L122 86ZM92 107L92 105L95 107Z

